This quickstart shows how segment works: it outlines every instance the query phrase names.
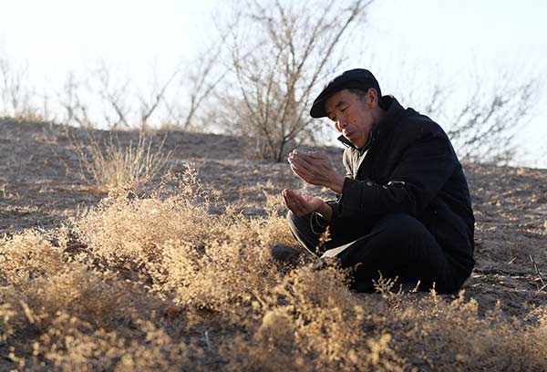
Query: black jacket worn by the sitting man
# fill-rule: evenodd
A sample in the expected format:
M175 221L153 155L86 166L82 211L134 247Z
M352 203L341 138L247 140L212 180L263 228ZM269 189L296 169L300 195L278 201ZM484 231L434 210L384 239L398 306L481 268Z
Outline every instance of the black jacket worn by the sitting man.
M346 143L344 189L331 227L377 221L404 212L422 222L465 280L474 265L475 219L468 184L450 140L439 124L391 96L381 98L387 115L363 150ZM463 282L462 282L463 283Z

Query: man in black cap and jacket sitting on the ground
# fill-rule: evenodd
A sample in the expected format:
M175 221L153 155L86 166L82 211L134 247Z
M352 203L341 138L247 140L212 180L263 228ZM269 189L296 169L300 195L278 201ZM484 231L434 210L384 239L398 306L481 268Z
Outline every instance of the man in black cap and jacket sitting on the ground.
M325 202L283 191L298 242L353 267L358 292L373 291L380 275L419 283L421 290L457 292L474 265L474 217L465 175L443 129L382 97L366 69L329 82L310 114L328 117L341 133L346 176L319 153L289 154L295 175L338 195Z

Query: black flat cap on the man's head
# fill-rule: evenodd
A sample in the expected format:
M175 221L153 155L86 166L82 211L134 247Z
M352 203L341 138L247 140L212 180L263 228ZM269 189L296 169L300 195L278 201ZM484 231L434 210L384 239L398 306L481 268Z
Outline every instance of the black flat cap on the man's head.
M378 97L382 96L380 91L380 86L377 82L377 79L372 75L372 72L368 71L365 68L355 68L347 70L342 75L337 76L336 78L329 81L325 88L319 93L319 96L315 98L312 109L310 109L310 115L312 118L323 118L326 116L325 112L325 101L333 93L336 93L339 90L347 88L359 88L365 91L368 88L375 88L378 93Z

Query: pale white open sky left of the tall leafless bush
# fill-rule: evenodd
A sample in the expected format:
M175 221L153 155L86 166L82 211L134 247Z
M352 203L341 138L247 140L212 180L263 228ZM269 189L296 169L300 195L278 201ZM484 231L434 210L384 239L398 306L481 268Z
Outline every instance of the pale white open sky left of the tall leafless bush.
M67 70L104 59L149 75L172 71L203 36L212 0L0 0L0 47L26 60L36 79L56 81ZM1 49L0 49L1 50Z

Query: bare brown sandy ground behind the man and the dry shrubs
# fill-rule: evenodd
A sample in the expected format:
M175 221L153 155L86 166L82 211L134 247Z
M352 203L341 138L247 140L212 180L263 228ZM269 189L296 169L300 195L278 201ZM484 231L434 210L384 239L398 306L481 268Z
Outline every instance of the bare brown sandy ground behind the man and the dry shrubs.
M85 131L72 130L71 137L88 139ZM93 133L97 139L109 136L105 131ZM135 132L119 133L122 144L137 139ZM156 141L161 139L156 136ZM264 193L304 186L286 163L254 160L250 146L247 140L228 136L171 132L164 149L174 150L174 171L194 164L203 183L253 217L264 212ZM341 162L341 149L321 150ZM82 179L62 127L0 119L0 154L2 234L56 228L104 197ZM464 170L477 220L477 265L464 285L466 296L475 298L483 311L499 302L508 315L547 305L547 171L475 164L464 164Z

